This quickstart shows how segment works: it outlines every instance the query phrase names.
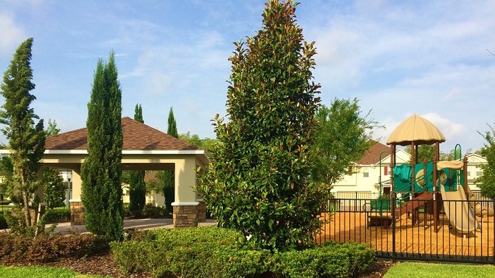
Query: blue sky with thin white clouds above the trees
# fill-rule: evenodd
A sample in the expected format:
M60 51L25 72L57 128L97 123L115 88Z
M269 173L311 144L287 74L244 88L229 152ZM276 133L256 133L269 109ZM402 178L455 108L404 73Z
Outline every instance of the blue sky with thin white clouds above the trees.
M32 107L65 132L86 126L97 60L113 49L123 116L141 103L145 123L166 131L173 106L179 133L215 137L232 43L260 30L264 2L0 0L0 72L33 37ZM416 113L443 132L442 151L483 146L478 131L495 123L495 1L301 2L322 103L360 99L386 126L383 143Z

